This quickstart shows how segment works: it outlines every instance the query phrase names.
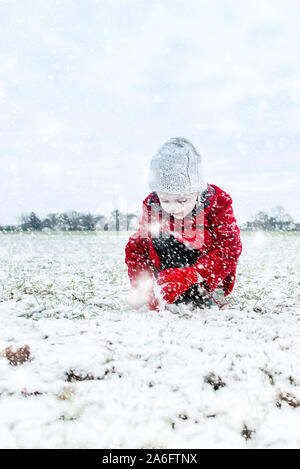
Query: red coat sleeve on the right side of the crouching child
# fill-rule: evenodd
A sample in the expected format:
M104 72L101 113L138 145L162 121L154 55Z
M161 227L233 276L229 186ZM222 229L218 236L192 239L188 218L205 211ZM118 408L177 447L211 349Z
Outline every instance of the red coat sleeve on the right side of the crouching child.
M208 218L214 247L198 259L195 267L211 291L214 291L225 277L235 274L242 242L230 196L227 195L225 205L218 211L213 210Z

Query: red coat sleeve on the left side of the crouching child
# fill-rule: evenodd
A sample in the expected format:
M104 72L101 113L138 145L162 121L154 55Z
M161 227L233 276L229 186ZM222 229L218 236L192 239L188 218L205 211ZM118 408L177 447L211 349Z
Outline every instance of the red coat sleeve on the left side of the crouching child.
M147 236L148 209L143 202L143 214L136 233L130 236L125 247L125 263L132 286L136 286L142 274L153 276L154 268L149 256L149 238Z

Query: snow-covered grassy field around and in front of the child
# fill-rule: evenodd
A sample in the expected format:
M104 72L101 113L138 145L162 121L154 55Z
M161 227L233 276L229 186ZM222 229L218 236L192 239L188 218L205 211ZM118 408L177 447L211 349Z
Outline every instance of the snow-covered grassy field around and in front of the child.
M0 447L300 448L299 234L242 233L231 304L177 314L126 306L127 239L0 235Z

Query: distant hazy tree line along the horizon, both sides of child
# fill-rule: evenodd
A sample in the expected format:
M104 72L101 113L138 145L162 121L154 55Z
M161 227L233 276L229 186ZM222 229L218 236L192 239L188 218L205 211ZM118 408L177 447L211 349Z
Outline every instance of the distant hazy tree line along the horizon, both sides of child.
M113 210L108 217L68 211L50 213L40 218L35 212L22 214L18 225L0 225L2 232L14 231L130 231L138 225L139 215L136 213L122 213ZM300 223L293 218L282 206L271 209L270 213L260 211L251 221L240 225L245 231L300 231Z

